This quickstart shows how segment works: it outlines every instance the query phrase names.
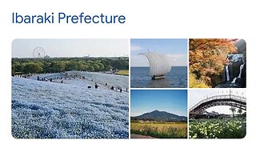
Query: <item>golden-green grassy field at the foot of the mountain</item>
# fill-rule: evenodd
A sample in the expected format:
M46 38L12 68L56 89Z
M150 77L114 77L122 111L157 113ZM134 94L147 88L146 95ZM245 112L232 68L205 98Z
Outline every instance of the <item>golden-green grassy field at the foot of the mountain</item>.
M147 135L154 138L187 138L185 122L138 123L131 122L130 133Z

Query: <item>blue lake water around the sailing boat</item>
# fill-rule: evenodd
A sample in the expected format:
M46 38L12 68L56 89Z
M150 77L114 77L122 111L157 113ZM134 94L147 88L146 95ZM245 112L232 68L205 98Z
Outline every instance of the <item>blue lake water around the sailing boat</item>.
M149 76L150 67L130 68L130 87L132 88L186 88L187 67L172 66L166 78L151 80Z

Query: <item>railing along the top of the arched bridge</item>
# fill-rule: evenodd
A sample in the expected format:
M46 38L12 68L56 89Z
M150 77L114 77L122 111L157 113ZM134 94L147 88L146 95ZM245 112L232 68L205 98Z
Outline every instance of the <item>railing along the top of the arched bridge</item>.
M198 102L196 105L194 105L190 108L190 111L194 110L196 107L200 106L202 103L210 102L210 101L213 101L216 99L233 99L233 100L237 100L239 102L246 102L246 98L240 97L240 96L237 96L234 94L215 95L213 97L205 98L202 101Z

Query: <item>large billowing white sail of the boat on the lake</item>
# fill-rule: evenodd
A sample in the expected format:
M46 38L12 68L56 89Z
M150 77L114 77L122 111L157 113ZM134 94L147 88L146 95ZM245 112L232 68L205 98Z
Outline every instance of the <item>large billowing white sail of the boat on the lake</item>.
M154 52L143 53L150 62L150 77L165 75L170 72L170 62L166 55Z

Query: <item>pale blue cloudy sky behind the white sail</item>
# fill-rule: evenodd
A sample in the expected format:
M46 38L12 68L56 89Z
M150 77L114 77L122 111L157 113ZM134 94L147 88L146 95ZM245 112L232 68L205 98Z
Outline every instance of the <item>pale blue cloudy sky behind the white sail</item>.
M141 55L148 50L166 54L172 66L187 65L187 39L130 39L131 66L149 66Z

